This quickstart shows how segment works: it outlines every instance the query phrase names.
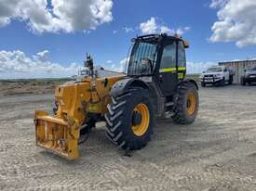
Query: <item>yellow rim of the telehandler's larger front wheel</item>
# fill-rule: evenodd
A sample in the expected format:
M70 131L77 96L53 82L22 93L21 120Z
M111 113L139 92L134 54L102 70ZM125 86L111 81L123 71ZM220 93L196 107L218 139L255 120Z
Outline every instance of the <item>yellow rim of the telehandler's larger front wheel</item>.
M139 104L133 109L133 113L138 112L141 114L141 123L138 125L132 125L131 129L133 134L141 136L146 133L149 127L150 114L149 109L145 104Z

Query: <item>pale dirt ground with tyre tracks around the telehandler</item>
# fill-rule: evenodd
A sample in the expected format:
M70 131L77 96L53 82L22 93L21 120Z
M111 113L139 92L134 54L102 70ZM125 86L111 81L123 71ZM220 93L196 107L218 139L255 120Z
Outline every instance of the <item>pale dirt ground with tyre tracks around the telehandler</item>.
M256 86L201 89L195 123L157 121L125 155L94 130L67 161L34 146L34 109L53 96L0 96L0 190L256 190Z

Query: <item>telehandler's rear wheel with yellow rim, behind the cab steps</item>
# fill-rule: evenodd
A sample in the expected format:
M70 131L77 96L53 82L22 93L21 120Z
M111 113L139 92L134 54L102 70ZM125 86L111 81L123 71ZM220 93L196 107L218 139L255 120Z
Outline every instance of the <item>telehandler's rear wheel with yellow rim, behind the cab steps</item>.
M199 108L198 92L193 83L184 83L179 90L177 106L174 109L173 121L190 124L195 121Z

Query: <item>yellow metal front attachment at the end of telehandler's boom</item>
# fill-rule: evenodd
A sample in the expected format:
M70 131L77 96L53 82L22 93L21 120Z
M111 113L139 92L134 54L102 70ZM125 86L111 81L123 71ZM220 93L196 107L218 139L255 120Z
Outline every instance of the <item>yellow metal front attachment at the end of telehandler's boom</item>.
M79 125L72 118L49 117L45 111L35 111L36 145L47 148L66 159L77 159Z

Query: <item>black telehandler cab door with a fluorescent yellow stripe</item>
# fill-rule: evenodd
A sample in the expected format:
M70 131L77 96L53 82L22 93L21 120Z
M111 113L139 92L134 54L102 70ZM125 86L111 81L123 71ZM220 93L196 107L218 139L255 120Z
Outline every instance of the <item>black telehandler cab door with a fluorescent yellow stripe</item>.
M176 90L178 83L177 56L178 42L172 41L163 45L162 57L160 58L160 67L158 82L163 96L172 95Z

